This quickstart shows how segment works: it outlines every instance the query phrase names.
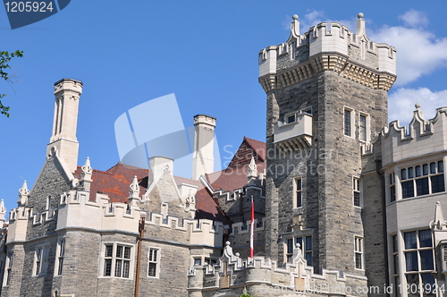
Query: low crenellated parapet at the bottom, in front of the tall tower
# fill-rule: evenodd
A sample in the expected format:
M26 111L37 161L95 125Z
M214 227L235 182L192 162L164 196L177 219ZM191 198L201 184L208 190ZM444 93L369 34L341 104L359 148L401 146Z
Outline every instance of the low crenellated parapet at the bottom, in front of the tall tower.
M215 266L189 269L190 296L219 296L225 290L240 292L247 289L254 295L289 296L299 294L331 294L340 296L366 296L357 292L367 286L367 277L347 274L338 270L323 269L315 274L308 267L299 244L293 250L290 263L278 267L277 262L264 257L241 259L226 242L223 255Z

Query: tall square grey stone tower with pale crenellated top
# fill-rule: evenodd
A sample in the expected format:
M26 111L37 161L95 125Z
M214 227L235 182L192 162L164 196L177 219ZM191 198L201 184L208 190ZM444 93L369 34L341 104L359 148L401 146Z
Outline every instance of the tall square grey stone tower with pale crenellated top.
M355 33L322 22L302 35L294 15L290 38L260 51L267 256L285 262L299 243L316 272L336 269L384 284L385 267L365 262L366 254L385 252L380 152L368 148L387 124L395 62L393 47L367 38L362 13Z

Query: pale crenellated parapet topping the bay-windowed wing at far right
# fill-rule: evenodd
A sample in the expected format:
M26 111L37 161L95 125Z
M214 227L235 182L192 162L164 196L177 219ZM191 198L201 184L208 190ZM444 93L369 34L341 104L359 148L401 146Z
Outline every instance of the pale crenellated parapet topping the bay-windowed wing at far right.
M409 127L393 121L379 133L382 137L383 165L410 157L422 157L447 150L447 107L436 109L433 119L426 120L416 105ZM374 142L373 142L374 145Z

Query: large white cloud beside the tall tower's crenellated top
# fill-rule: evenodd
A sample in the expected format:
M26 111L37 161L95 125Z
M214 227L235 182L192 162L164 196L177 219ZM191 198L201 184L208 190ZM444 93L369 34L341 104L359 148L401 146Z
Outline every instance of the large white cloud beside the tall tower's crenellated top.
M418 15L420 16L417 11L409 11L404 13L401 19L412 26L426 22L415 20ZM436 37L422 27L384 26L369 34L368 37L376 42L396 47L398 75L396 86L417 81L422 75L447 66L447 51L445 50L447 38Z

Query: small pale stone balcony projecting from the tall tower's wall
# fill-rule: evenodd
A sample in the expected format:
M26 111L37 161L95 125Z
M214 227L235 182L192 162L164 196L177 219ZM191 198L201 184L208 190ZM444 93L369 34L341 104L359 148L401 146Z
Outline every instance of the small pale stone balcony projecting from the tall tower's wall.
M274 146L284 150L310 148L312 145L312 115L300 113L293 123L274 125Z

